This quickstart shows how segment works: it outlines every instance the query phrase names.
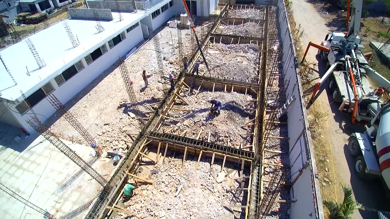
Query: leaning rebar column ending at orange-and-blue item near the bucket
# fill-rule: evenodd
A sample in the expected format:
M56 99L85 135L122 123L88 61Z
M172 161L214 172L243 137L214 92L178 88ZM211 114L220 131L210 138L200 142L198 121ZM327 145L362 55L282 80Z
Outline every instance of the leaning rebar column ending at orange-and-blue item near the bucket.
M84 138L85 141L87 141L88 145L96 151L96 154L100 157L101 155L101 148L97 146L96 141L92 136L89 134L89 132L83 127L82 124L73 116L73 114L66 109L64 104L60 100L57 99L57 97L54 94L47 94L46 99L50 102L51 106L53 106L60 115L62 115L66 121L71 124L74 129Z

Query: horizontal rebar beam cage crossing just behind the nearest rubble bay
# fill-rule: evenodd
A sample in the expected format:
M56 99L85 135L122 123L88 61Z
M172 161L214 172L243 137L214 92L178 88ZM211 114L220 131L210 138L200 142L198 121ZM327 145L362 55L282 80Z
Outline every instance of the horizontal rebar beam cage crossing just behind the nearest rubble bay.
M222 154L232 155L234 157L244 158L248 160L253 160L255 154L251 151L241 150L237 148L217 145L215 143L210 143L207 141L195 140L192 138L186 138L183 136L178 136L174 134L160 133L160 132L149 132L148 138L154 140L163 140L170 143L185 145L188 147L193 147L197 149L207 148L208 150L219 152Z

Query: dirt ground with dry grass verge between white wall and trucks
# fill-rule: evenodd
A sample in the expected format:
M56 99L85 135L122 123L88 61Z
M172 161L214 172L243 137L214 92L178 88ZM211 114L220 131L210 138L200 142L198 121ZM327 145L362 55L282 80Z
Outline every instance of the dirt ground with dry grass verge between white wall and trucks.
M304 47L307 46L309 41L318 43L323 41L325 35L334 30L336 21L323 18L323 16L327 17L328 14L318 11L316 4L311 4L305 0L296 0L293 2L292 10L296 22L295 27L298 28L301 25L301 30L304 30L302 39L300 39ZM343 18L339 17L338 19L339 22L345 23L345 19L344 21L342 20ZM316 83L318 77L325 72L324 63L317 61L316 54L317 49L310 49L306 58L308 62L316 64L311 75L311 78L314 80L313 83ZM328 81L324 82L324 84L327 83ZM315 104L308 110L309 115L313 111L329 115L319 127L312 127L321 130L317 142L322 141L326 147L326 150L320 148L323 153L316 153L323 200L337 199L342 201L343 197L339 183L343 183L352 187L356 201L362 203L366 208L388 210L386 209L388 207L385 205L386 200L383 197L382 185L377 180L365 182L356 177L354 173L354 159L346 150L350 134L352 132L362 132L363 130L353 125L350 117L343 115L338 110L337 104L329 104L330 102L332 102L331 97L326 90L323 90ZM313 147L315 150L319 149L316 148L316 141L313 142ZM324 182L324 178L329 179L330 183ZM351 216L354 219L372 219L376 218L376 212L360 210L355 211Z

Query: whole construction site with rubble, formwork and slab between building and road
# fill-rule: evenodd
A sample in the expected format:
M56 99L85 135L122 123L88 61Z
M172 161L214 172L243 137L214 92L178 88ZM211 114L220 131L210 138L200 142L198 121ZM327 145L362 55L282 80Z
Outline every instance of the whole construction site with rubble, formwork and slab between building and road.
M36 133L17 134L30 145L18 158L7 152L11 127L2 127L0 155L16 159L4 161L6 218L324 218L284 1L201 0L193 19L197 36L163 25L66 103L47 94L56 112L44 122L30 106ZM213 99L220 115L210 112ZM43 144L62 164L34 164L38 191L23 193L31 187L12 181L27 178L7 177L7 165L23 165L24 151ZM43 184L41 171L60 174ZM126 197L129 180L137 186Z

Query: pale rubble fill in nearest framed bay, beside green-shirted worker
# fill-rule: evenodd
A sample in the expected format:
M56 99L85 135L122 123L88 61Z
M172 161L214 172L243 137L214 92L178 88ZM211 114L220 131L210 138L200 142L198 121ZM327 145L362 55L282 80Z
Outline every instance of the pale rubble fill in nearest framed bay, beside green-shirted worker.
M187 155L181 169L183 154L172 157L168 152L164 164L149 173L152 185L141 185L134 190L133 197L124 203L128 211L145 219L218 219L245 218L245 211L234 212L222 205L246 205L246 191L230 190L231 187L248 187L248 180L232 180L238 175L238 164L202 156L197 170L197 156ZM177 153L176 153L177 155ZM249 172L244 171L244 176ZM240 174L241 176L241 174ZM119 218L125 218L118 217Z

